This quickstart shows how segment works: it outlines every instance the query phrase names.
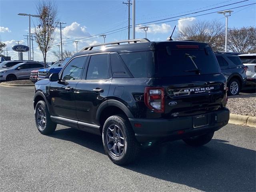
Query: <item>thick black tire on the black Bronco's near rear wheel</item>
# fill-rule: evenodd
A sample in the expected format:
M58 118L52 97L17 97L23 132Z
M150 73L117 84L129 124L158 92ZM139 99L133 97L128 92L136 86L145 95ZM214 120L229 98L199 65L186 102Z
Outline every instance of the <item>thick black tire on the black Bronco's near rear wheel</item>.
M116 140L116 151L119 152L120 154L114 154L113 150L110 150L111 145L114 143L114 140L110 141L109 134L112 134L111 128L113 125L116 127L117 130L113 132L116 132L116 138L113 134L113 139L116 140L118 138L118 129L121 131L120 135L122 134L122 142L123 142L123 149L119 149L119 139L118 141ZM109 140L110 142L108 142ZM124 115L114 115L110 116L104 123L103 130L102 130L102 141L103 141L103 146L106 154L108 155L108 158L112 160L114 164L118 165L125 165L129 164L132 161L136 159L140 152L140 144L137 142L135 138L134 131L132 130L132 126L129 122L129 120L126 118ZM122 144L120 140L120 144Z

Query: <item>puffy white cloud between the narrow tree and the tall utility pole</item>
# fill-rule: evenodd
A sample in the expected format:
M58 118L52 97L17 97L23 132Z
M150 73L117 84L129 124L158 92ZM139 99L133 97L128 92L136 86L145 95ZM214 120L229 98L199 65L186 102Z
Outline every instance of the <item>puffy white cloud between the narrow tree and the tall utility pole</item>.
M68 38L90 36L90 33L86 31L86 26L80 26L80 24L77 22L73 22L71 25L66 26L64 29L62 29L62 33Z

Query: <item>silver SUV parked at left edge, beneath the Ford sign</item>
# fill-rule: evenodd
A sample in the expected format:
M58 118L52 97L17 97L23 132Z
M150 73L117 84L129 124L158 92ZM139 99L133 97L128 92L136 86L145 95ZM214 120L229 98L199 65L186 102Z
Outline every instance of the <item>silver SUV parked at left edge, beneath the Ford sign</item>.
M8 69L0 69L0 81L29 79L32 70L39 70L42 68L44 68L44 64L39 62L19 63Z

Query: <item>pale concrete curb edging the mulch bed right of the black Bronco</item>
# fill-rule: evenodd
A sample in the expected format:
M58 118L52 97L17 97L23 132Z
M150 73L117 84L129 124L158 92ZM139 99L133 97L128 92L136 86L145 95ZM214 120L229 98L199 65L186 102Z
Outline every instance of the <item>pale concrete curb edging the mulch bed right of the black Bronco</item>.
M228 123L256 128L256 117L231 114Z

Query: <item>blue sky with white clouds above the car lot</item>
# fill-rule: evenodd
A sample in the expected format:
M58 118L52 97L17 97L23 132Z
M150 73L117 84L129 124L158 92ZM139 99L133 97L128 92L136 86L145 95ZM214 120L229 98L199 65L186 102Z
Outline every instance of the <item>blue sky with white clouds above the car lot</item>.
M248 0L222 8L182 16L182 14L189 14L240 1L242 0L136 0L136 24L175 16L177 17L174 19L192 17L150 26L147 33L148 39L166 40L166 38L170 36L175 25L178 27L185 26L198 20L219 20L220 22L225 23L223 15L213 13L197 17L199 14L217 12L236 6L256 3L256 0ZM36 2L37 0L0 0L0 40L5 42L10 49L14 46L15 40L23 40L24 42L22 42L22 44L27 44L23 35L28 33L28 17L18 16L17 14L36 14ZM66 22L66 28L63 30L63 49L75 51L76 46L72 40L105 33L127 26L128 6L122 4L122 2L122 0L56 0L58 6L58 19L61 22ZM232 13L232 16L229 17L228 27L240 28L242 26L256 25L256 4L232 10L234 12ZM32 27L34 26L33 22L36 24L36 18L32 19ZM176 31L178 30L178 27L176 28ZM130 36L132 37L132 32ZM144 38L144 36L145 33L137 28L136 38ZM126 29L107 35L106 42L123 40L127 39L127 37ZM58 47L56 46L58 42L60 42L60 35L59 30L56 30L54 39L55 46L53 46L51 51L58 51ZM78 50L83 46L102 42L102 37L94 37L94 39L85 38L82 39L81 42L78 42ZM42 61L42 53L36 47L37 45L34 43L34 60ZM48 61L56 60L56 57L51 51L48 54ZM15 57L18 55L12 50L9 51L9 54L11 54L13 59L16 59ZM27 59L26 53L24 53L24 59Z

